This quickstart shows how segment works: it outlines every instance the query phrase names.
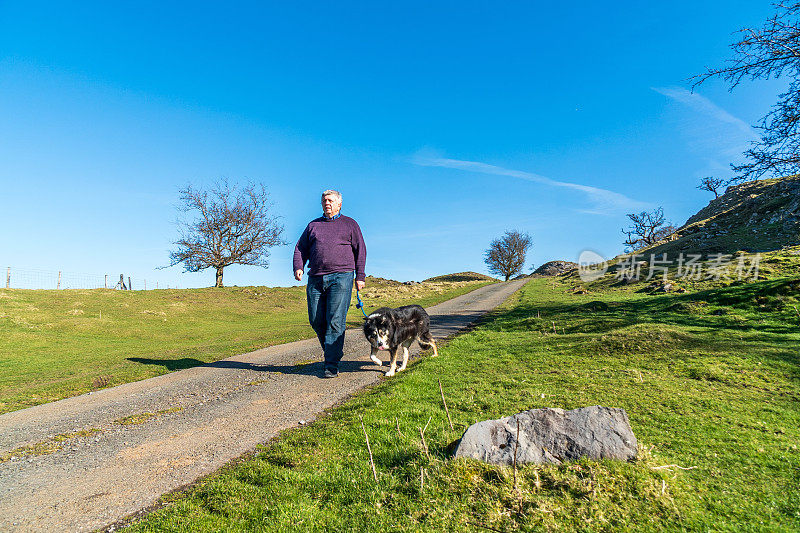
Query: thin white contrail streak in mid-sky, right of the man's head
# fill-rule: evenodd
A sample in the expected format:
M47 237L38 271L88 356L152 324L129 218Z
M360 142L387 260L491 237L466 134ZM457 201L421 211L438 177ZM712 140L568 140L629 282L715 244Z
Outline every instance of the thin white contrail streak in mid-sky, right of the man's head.
M647 209L650 204L640 202L632 198L628 198L624 194L620 194L607 189L600 189L598 187L591 187L589 185L581 185L579 183L570 183L567 181L557 181L540 174L533 172L525 172L522 170L513 170L509 168L498 167L481 163L478 161L463 161L460 159L448 159L444 157L433 157L423 154L417 154L413 159L414 164L425 167L443 167L464 170L467 172L477 172L480 174L491 174L494 176L508 176L510 178L517 178L550 187L563 187L572 189L585 194L589 201L592 202L590 209L579 209L582 213L589 213L595 215L610 215L620 212L631 211L636 209Z

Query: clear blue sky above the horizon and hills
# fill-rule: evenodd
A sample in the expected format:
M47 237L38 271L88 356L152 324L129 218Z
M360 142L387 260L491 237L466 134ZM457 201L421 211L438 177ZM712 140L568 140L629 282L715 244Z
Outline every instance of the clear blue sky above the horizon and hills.
M768 2L0 4L0 266L213 284L168 263L178 189L262 181L291 244L228 285L291 285L327 188L368 274L486 272L622 249L625 213L680 224L730 177L783 84L687 78ZM527 270L527 268L526 268Z

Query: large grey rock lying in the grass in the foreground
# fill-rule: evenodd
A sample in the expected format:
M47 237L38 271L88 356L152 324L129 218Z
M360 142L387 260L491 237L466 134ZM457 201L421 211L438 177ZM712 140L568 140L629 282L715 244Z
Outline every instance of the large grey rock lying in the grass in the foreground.
M628 414L624 409L599 405L572 411L531 409L500 420L478 422L467 428L455 456L492 464L513 464L517 420L518 464L560 464L581 457L636 459L636 437Z

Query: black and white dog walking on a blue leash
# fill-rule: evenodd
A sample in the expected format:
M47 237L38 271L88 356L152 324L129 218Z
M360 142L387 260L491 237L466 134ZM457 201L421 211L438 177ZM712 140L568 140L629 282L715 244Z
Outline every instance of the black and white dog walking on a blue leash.
M382 350L389 350L391 360L387 376L394 376L395 370L401 372L408 363L408 347L417 341L423 350L433 347L434 357L439 355L436 343L431 336L431 319L419 305L404 305L397 309L381 307L364 321L364 336L372 345L369 358L378 366L383 361L376 357ZM397 368L397 352L403 349L403 364Z

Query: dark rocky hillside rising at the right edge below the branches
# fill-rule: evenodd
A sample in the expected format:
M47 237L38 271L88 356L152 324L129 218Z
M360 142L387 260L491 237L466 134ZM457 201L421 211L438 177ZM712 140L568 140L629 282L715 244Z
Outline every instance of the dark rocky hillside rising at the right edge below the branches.
M766 252L800 244L800 175L729 187L670 240L642 252Z

